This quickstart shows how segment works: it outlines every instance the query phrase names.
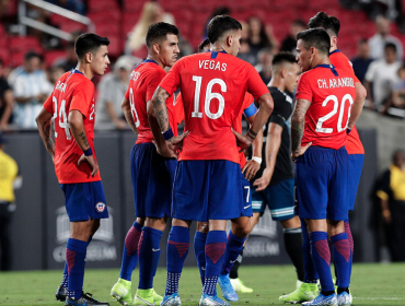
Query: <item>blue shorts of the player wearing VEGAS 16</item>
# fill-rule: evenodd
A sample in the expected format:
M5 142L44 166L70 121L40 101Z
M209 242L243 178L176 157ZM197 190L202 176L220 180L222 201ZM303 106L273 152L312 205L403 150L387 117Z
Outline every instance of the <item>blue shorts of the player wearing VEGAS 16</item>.
M207 222L242 215L241 166L230 161L181 161L174 187L172 216Z

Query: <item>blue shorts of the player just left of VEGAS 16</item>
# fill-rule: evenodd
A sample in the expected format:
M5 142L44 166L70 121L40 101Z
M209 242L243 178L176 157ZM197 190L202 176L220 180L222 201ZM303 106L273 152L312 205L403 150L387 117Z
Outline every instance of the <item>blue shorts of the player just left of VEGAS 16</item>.
M135 215L170 216L177 161L165 158L153 143L135 144L130 152Z

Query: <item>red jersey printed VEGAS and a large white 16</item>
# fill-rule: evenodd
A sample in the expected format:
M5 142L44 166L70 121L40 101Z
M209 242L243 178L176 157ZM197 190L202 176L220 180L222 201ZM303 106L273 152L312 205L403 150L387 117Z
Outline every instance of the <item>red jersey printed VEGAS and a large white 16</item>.
M239 164L231 127L245 92L256 99L268 93L252 64L227 52L204 52L180 59L160 83L169 95L182 91L185 130L178 161L227 160Z

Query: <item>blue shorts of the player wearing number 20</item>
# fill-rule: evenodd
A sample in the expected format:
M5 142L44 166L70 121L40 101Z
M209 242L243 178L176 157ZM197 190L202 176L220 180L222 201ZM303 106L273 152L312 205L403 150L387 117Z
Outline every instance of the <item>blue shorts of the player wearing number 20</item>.
M348 165L345 146L339 150L310 146L296 161L296 186L301 219L348 217Z

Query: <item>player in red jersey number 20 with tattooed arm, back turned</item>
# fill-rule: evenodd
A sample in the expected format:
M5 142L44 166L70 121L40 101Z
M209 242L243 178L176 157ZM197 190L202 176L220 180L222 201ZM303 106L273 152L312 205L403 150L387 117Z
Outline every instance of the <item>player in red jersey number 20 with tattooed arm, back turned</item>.
M350 282L350 247L344 220L348 215L346 129L361 114L352 73L328 59L331 38L322 28L297 35L300 76L291 119L292 160L299 214L305 220L321 293L304 305L337 305L331 274L329 236L340 289ZM311 146L312 145L312 146ZM343 292L340 295L347 295ZM339 305L350 305L346 299Z

